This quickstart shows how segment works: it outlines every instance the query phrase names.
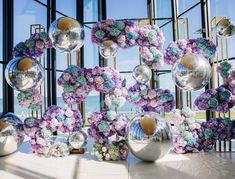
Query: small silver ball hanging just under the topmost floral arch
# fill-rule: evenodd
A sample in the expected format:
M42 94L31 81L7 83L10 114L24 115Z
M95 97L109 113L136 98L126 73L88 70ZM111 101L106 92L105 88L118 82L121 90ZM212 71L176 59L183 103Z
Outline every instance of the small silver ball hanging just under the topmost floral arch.
M111 40L106 40L99 47L99 52L102 57L105 59L114 58L118 52L118 46Z

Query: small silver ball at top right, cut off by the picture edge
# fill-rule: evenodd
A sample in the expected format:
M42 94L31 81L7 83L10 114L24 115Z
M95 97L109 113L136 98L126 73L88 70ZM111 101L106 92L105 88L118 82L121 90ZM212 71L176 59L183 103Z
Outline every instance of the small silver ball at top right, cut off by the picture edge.
M235 33L235 23L223 18L216 24L215 29L219 37L231 37Z

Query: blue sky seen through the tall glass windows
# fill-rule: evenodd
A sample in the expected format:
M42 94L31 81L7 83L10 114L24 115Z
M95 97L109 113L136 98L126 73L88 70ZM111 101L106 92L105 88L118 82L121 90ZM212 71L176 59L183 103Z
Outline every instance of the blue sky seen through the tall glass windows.
M46 0L41 0L46 2ZM179 0L179 13L188 9L199 0ZM211 17L215 15L227 16L235 20L234 13L234 0L211 0ZM14 44L20 41L24 41L29 37L29 27L30 24L42 24L46 26L46 8L42 5L36 3L33 0L15 0L15 21L14 21ZM62 11L70 17L76 15L75 0L57 0L57 10ZM157 0L156 5L156 15L159 18L171 17L171 0ZM2 12L2 0L0 0L0 11ZM84 20L85 21L97 21L97 0L85 0L84 4ZM57 14L57 17L60 17ZM147 5L146 0L107 0L107 18L113 19L125 19L125 18L141 18L147 17ZM182 17L187 17L189 19L189 37L195 38L200 35L194 34L194 32L201 28L201 17L200 17L200 6L197 6L190 12L186 13ZM159 21L158 24L164 24L167 21ZM2 26L2 19L0 20L0 26ZM91 26L91 25L90 25ZM162 28L165 37L165 47L172 40L172 23ZM91 43L90 39L90 29L85 27L86 39L85 39L85 66L93 67L98 65L98 53L97 45ZM184 38L181 35L181 38ZM0 40L2 39L2 34L0 35ZM229 50L230 56L235 56L235 51L232 50L235 47L234 37L229 40ZM0 44L0 49L2 49L2 43ZM0 51L0 56L2 52ZM134 47L128 50L119 50L117 56L117 68L120 71L132 70L139 61L138 48ZM60 70L65 69L67 66L66 55L57 52L57 68ZM170 69L170 66L165 65L162 69ZM0 76L2 73L0 73ZM58 75L60 75L58 73ZM134 80L131 74L127 75L129 84L133 84ZM163 79L169 83L164 83ZM2 78L0 78L0 85ZM160 78L160 87L169 88L174 90L174 85L171 79L171 75L167 74ZM0 89L1 86L0 86ZM62 88L58 88L58 96L61 96ZM0 90L0 98L2 96L2 91Z

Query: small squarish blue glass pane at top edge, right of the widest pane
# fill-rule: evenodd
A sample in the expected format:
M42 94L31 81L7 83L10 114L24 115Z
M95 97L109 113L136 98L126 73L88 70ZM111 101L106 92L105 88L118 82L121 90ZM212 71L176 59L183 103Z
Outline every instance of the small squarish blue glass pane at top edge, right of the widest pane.
M171 17L171 0L157 0L155 8L157 18Z

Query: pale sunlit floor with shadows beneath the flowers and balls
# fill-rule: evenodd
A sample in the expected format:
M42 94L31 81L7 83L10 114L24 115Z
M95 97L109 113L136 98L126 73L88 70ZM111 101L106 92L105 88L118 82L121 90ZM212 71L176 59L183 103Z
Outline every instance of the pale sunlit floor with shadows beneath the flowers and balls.
M0 157L0 179L235 179L235 153L169 153L155 163L129 155L127 161L99 162L90 155L39 157L24 143Z

